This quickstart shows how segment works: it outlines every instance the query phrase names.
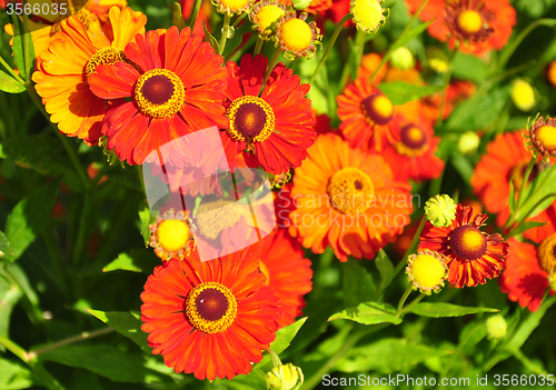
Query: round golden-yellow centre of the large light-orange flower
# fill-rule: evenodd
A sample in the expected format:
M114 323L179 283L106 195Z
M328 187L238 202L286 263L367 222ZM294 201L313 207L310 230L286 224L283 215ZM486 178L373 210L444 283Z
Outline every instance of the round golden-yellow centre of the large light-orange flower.
M373 201L375 187L370 178L358 168L344 168L334 173L327 187L331 206L344 214L360 214Z

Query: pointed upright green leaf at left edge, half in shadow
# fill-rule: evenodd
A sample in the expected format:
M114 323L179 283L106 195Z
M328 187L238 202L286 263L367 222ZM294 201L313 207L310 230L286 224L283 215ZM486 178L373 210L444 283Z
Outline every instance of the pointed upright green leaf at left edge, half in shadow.
M6 223L6 237L13 250L13 256L7 257L9 260L18 260L34 241L49 220L57 193L58 181L52 180L16 204Z

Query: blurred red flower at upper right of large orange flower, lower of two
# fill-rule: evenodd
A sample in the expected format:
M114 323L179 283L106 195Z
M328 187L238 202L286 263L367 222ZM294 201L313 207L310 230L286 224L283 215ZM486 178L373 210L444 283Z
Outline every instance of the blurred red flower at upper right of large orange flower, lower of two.
M423 181L440 176L444 161L435 156L440 138L434 136L433 127L427 121L406 122L399 141L380 154L391 167L396 180Z

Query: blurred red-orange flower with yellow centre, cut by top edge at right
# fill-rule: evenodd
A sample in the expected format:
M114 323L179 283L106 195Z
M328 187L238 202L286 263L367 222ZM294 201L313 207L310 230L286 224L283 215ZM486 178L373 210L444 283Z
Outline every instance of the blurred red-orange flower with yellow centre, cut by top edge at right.
M421 2L406 0L411 13ZM478 56L506 46L516 24L516 10L508 0L429 0L419 19L436 19L427 28L431 37L441 42L448 41L453 49L459 40L461 51Z

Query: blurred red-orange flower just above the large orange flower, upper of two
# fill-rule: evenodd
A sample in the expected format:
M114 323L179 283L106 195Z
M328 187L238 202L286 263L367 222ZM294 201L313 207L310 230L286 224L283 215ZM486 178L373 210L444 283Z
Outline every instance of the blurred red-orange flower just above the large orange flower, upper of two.
M381 151L399 140L399 120L391 101L368 79L359 78L336 98L340 130L351 148Z

